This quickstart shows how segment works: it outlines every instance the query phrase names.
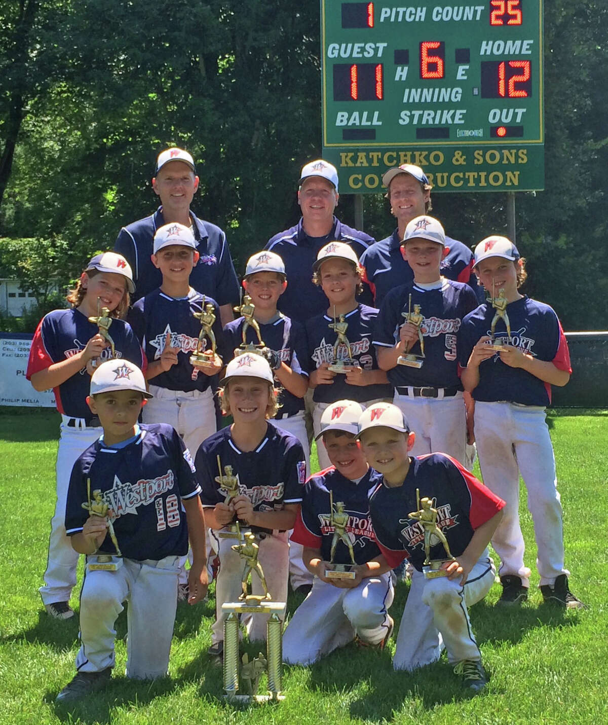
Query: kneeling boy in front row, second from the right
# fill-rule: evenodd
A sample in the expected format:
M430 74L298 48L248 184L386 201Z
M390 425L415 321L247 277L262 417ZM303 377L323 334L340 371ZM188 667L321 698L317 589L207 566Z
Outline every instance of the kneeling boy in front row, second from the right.
M321 417L330 468L304 486L292 539L304 546L304 563L315 575L312 591L283 635L283 659L308 665L351 642L383 648L391 636L390 567L375 542L368 495L380 480L357 446L359 403L338 400ZM354 579L331 579L336 565L351 566Z

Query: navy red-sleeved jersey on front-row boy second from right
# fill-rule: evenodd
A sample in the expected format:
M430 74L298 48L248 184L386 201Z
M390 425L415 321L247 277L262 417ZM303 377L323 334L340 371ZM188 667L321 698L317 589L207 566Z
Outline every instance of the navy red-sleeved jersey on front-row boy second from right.
M349 515L346 533L351 540L354 560L357 564L365 564L366 561L375 559L380 555L380 550L370 521L369 496L381 480L382 476L373 468L358 483L347 479L333 466L311 476L304 486L301 509L291 534L292 541L312 549L320 549L323 560L330 561L335 531L330 523L331 491L334 508L336 502L341 501L344 504L344 513ZM349 547L344 542L336 545L334 561L336 564L351 563Z

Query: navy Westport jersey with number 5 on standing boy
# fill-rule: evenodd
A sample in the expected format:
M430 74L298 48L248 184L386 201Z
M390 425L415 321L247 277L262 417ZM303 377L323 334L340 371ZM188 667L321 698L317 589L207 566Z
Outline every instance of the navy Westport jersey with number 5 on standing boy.
M392 347L399 341L399 328L405 323L401 313L409 309L409 294L412 294L412 310L414 305L420 305L425 318L421 328L425 361L422 368L396 365L388 370L388 379L395 387L459 386L457 336L462 319L477 307L475 292L462 282L446 279L436 289L422 289L414 283L393 289L380 307L374 329L375 345ZM413 345L411 352L420 355L420 344Z

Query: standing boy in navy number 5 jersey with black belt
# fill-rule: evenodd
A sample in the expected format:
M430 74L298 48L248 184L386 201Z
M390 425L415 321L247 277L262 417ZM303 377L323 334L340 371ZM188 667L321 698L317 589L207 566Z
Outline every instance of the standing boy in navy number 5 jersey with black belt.
M465 463L466 418L458 376L457 337L462 318L478 305L475 292L441 276L448 250L441 224L422 215L405 228L401 244L414 280L392 289L374 331L378 365L394 386L394 405L416 431L414 455L442 451ZM420 367L403 365L412 352Z

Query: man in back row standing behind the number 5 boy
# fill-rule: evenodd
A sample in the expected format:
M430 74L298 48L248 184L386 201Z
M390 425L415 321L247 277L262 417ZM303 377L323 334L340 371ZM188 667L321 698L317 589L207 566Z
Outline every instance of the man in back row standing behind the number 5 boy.
M391 236L369 247L360 257L365 276L374 294L374 307L380 307L386 293L414 278L409 264L401 255L400 244L405 228L416 217L428 214L431 185L420 166L404 164L388 169L382 183L388 188L386 198L391 202L391 213L397 220L397 228ZM446 236L448 253L441 261L441 275L454 282L465 282L480 297L477 278L472 274L473 255L462 241Z

